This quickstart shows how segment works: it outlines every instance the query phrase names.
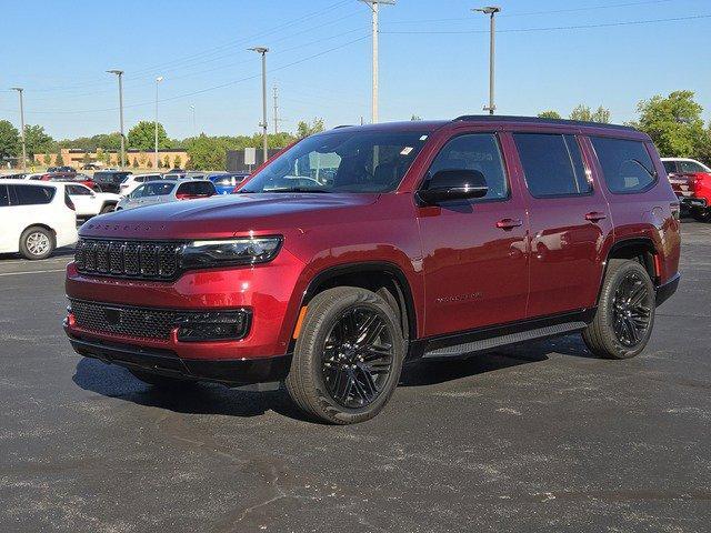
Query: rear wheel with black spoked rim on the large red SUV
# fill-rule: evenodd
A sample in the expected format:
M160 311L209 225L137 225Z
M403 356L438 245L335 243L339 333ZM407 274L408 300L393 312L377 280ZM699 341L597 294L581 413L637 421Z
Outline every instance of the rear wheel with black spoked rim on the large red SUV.
M605 359L639 354L654 326L654 284L637 261L611 259L593 321L582 338L592 353Z

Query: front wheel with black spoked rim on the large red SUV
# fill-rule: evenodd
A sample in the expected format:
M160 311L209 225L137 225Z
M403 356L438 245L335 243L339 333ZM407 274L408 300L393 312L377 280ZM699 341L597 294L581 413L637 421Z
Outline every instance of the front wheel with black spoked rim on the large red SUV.
M329 289L309 303L287 391L322 422L363 422L392 396L404 352L397 314L381 296L354 286Z

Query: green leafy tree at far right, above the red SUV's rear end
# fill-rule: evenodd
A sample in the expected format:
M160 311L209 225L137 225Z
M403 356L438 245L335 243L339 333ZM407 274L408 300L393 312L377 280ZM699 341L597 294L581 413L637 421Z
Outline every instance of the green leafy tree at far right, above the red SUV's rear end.
M693 97L693 91L674 91L642 100L637 105L640 119L632 125L652 138L662 157L694 157L703 151L704 129L703 108Z

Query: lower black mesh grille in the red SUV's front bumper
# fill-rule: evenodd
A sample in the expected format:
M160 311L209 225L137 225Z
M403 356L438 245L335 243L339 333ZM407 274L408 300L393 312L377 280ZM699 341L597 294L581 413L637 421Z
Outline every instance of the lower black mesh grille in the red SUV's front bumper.
M131 308L71 300L71 312L82 330L137 339L168 340L180 311Z

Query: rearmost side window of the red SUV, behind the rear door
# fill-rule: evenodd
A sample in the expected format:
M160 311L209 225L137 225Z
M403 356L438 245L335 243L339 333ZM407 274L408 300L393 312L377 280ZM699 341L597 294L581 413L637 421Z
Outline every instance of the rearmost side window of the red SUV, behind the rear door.
M644 143L608 137L592 137L590 140L610 192L641 192L654 183L657 173Z

